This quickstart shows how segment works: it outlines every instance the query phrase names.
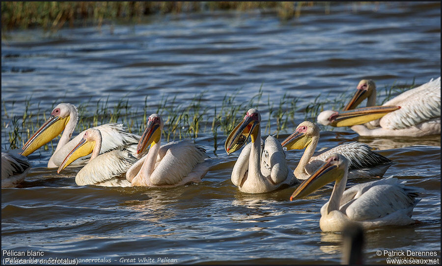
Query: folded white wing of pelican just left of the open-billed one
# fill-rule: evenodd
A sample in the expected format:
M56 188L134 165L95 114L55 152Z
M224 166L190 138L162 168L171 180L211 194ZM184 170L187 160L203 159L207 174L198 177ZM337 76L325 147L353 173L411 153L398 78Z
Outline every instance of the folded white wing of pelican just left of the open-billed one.
M156 186L177 184L205 158L204 148L195 145L191 140L173 141L166 145L168 145L166 154L159 163L156 163L155 170L150 176L152 184Z

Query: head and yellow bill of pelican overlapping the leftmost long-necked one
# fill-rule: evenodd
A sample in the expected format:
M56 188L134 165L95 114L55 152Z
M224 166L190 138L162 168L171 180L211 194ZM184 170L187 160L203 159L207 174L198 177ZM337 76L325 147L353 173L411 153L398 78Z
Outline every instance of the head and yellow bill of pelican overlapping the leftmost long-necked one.
M63 162L58 167L57 173L66 168L73 161L79 159L80 157L87 156L92 153L95 148L96 143L100 143L101 148L101 132L97 129L88 129L83 134L83 138L75 146L74 149L66 156ZM99 151L98 151L99 152ZM91 160L93 158L91 157Z

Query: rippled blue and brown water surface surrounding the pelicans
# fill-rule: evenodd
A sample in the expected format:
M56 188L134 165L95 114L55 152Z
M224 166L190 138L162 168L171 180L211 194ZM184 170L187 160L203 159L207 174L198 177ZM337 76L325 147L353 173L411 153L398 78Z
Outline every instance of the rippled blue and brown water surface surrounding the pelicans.
M332 100L348 92L342 99L346 102L359 80L370 78L383 98L384 88L393 84L414 80L418 85L441 75L440 3L354 8L334 4L324 14L323 7L314 6L284 23L271 12L216 12L157 16L135 26L9 33L1 45L2 147L8 148L5 126L12 115L23 114L26 99L31 99L30 111L40 108L46 115L59 102L90 102L84 112L91 115L99 99L124 99L141 121L145 99L147 112L153 113L162 97L176 97L175 104L184 108L203 92L208 117L202 119L210 127L212 109L226 94L237 93L237 101L247 102L261 87L256 106L263 121L269 120L272 104L278 108L282 98L298 99L293 121L279 132L282 140L304 121L305 107L318 95ZM275 133L273 117L270 129ZM349 128L325 128L318 149L353 140L396 162L386 176L425 189L413 215L422 223L365 232L365 262L385 264L387 256L377 256L378 250L439 252L440 136L361 138ZM196 139L211 157L225 157L224 141L219 130L215 151L210 128ZM201 184L163 189L76 186L78 168L57 174L46 168L51 154L52 149L40 149L30 155L32 168L22 187L1 189L2 249L44 251L45 258L106 258L111 263L144 257L177 263L340 262L341 235L319 228L319 211L331 185L293 202L289 197L294 187L241 193L230 181L237 152ZM301 155L287 153L290 167L296 167ZM439 252L432 258L440 257Z

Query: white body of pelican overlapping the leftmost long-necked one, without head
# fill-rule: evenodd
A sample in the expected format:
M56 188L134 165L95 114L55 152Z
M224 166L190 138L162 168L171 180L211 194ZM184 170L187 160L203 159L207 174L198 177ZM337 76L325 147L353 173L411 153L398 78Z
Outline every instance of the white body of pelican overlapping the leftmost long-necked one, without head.
M121 186L121 184L130 186L130 183L121 176L124 176L129 167L137 160L130 151L125 149L101 154L88 162L78 172L75 182L79 186Z

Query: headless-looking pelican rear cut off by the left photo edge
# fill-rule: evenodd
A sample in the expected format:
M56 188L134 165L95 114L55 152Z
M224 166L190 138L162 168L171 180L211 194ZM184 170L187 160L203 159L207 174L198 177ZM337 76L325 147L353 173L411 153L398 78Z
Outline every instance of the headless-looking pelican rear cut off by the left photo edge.
M30 164L28 158L1 152L1 187L16 187L25 180Z

